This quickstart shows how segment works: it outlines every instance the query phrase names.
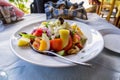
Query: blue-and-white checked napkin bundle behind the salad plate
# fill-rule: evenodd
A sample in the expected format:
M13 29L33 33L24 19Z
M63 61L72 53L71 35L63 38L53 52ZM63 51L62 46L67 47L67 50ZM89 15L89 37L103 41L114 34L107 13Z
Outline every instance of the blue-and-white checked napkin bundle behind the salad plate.
M83 7L83 1L71 3L67 0L58 0L57 3L51 1L45 3L45 13L47 19L63 17L65 19L73 19L74 17L87 20L87 13Z

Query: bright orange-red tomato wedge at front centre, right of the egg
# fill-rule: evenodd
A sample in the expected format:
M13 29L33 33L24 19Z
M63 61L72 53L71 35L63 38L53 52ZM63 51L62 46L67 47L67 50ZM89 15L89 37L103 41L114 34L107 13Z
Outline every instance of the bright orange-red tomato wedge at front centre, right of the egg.
M50 49L55 51L61 51L62 50L62 39L53 39L50 40Z

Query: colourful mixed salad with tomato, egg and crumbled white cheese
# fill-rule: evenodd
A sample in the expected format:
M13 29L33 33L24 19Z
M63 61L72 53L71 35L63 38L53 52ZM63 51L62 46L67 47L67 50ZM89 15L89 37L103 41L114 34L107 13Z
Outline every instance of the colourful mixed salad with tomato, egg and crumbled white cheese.
M77 54L86 43L86 36L76 23L63 18L42 22L31 33L21 32L18 46L30 46L38 51L53 51L60 55Z

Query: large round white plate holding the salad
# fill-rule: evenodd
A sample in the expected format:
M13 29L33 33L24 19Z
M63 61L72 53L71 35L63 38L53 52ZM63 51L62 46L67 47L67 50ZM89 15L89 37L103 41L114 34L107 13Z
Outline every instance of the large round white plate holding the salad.
M75 21L67 20L67 22L71 24ZM23 26L20 30L16 31L10 39L10 46L12 51L21 59L33 64L40 65L40 66L67 67L67 66L75 65L71 62L62 60L58 57L51 57L51 56L36 53L29 47L21 48L17 46L17 41L18 41L17 38L18 38L19 32L31 33L33 28L38 27L40 23L41 22L30 24L28 26ZM104 47L103 37L98 31L92 29L90 26L87 26L81 22L75 22L75 23L79 25L79 27L81 28L83 33L86 35L88 40L87 40L86 46L83 49L84 52L80 51L76 55L70 55L66 57L72 60L80 61L80 62L87 62L93 59L94 57L96 57L103 49Z

